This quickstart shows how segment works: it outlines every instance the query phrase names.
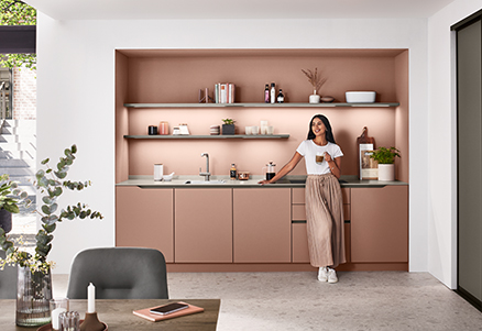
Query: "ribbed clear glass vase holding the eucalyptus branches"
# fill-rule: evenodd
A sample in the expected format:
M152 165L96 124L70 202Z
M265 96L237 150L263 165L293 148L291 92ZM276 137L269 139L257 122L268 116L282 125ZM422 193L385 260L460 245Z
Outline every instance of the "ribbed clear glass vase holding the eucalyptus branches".
M50 323L51 271L32 273L29 267L19 266L17 275L17 326L40 327Z

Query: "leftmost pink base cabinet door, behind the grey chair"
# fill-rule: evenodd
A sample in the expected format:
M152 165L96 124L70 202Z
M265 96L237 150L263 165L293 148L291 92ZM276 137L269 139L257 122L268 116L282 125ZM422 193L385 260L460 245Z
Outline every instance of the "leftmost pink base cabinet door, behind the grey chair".
M116 246L150 247L174 262L173 189L116 187Z

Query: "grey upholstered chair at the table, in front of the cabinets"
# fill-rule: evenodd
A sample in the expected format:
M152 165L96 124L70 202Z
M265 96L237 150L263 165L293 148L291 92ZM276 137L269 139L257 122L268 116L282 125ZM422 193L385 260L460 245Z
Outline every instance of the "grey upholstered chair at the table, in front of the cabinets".
M96 286L97 299L168 299L166 262L157 250L83 251L74 258L67 297L86 299L89 283Z

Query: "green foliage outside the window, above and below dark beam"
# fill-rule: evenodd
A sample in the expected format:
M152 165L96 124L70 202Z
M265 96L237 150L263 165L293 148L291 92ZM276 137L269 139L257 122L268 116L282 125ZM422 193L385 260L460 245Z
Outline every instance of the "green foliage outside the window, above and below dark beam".
M36 25L36 10L22 1L0 0L0 25ZM6 54L0 66L36 70L36 54Z

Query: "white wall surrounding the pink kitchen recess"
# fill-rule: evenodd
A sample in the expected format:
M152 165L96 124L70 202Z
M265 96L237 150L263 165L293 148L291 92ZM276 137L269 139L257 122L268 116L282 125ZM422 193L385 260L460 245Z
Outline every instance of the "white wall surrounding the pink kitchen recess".
M68 273L81 249L114 244L116 48L409 48L409 261L427 271L426 20L61 22L39 13L37 31L39 159L76 143L73 178L94 183L81 201L106 216L59 224L55 273Z

